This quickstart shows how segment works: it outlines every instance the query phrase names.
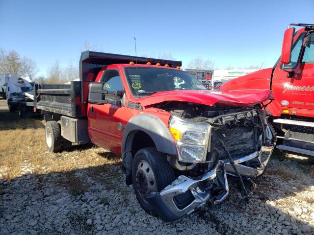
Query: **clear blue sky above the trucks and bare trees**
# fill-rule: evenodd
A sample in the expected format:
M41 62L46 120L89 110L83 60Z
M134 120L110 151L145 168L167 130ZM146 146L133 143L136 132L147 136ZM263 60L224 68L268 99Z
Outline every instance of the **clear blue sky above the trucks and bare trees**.
M0 0L0 47L32 58L37 75L76 60L84 42L105 52L171 53L225 69L272 67L290 23L314 24L314 0ZM301 3L301 2L300 2Z

